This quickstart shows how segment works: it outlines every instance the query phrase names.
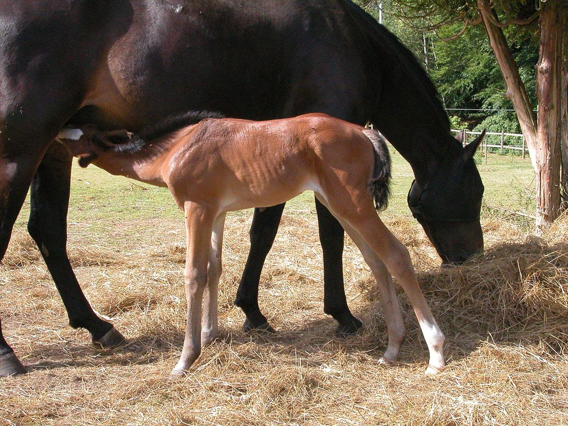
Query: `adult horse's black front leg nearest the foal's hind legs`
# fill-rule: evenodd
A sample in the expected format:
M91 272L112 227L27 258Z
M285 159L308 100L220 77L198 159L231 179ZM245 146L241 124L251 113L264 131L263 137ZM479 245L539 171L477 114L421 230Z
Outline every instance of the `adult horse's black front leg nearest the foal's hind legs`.
M320 243L323 252L323 310L339 323L337 334L352 335L357 332L362 324L349 310L345 297L343 281L343 227L317 198L316 212L318 213Z

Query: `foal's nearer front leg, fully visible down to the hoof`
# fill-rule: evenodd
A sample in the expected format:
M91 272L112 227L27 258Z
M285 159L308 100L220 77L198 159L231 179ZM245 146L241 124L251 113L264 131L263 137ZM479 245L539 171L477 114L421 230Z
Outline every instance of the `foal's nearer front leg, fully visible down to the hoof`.
M185 296L187 325L181 357L171 375L185 374L201 354L201 304L207 284L207 262L215 215L211 209L193 202L184 203L187 233Z

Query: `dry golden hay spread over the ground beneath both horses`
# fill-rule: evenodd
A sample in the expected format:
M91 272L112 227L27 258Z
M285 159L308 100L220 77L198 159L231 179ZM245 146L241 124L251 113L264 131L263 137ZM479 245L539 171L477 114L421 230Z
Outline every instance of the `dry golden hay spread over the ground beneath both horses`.
M350 241L346 289L365 328L349 339L333 334L309 213L283 218L262 275L261 309L276 336L241 332L244 316L232 299L250 219L228 219L221 335L174 381L167 376L185 327L182 221L117 223L97 244L81 239L79 225L72 232L70 256L85 293L130 337L126 347L103 352L85 331L66 327L37 250L16 231L0 270L0 313L31 372L2 379L0 424L567 424L568 219L540 238L485 220L486 252L454 269L437 267L411 219L386 222L411 250L446 335L440 377L423 374L427 348L403 295L408 336L400 362L378 365L387 338L381 303Z

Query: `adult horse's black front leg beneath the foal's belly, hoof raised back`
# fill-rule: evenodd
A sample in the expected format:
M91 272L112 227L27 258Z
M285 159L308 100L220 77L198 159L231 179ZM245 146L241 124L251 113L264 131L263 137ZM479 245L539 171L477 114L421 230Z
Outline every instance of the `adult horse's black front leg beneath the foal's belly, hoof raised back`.
M278 232L284 206L285 204L278 204L265 209L254 209L249 232L249 256L235 298L235 305L239 306L247 316L243 324L245 332L252 329L274 332L258 307L258 283L262 266Z

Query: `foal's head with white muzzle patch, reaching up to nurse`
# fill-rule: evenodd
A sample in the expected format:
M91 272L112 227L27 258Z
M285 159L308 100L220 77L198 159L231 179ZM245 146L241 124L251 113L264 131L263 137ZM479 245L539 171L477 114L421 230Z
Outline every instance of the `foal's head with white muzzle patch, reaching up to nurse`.
M74 157L79 158L79 165L86 167L110 149L130 143L132 133L126 130L103 131L94 124L84 124L78 128L63 128L57 138Z

